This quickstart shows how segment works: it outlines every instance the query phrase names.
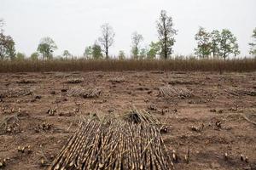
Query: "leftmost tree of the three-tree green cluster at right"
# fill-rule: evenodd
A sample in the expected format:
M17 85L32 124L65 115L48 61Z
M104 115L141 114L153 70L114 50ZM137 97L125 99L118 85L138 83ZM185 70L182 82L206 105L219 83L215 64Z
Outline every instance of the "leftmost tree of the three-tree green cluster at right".
M211 54L211 35L203 27L199 28L199 31L195 34L195 41L197 42L197 48L195 48L195 54L201 58L206 58Z

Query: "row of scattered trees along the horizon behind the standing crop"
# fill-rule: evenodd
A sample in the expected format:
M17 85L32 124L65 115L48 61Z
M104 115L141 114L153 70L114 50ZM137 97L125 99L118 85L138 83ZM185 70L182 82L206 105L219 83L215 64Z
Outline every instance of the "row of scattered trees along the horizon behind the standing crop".
M3 31L3 19L0 20L0 59L25 59L25 54L15 52L15 42L12 37L6 36ZM133 32L131 35L131 58L132 59L168 59L173 54L172 47L175 41L177 30L173 28L173 20L168 16L165 10L160 12L160 17L156 22L158 32L158 41L150 42L148 48L142 48L143 35ZM109 59L109 48L113 46L115 33L113 27L108 23L101 26L102 35L93 45L85 47L84 57L86 59ZM253 30L253 42L249 43L250 54L256 56L256 28ZM197 46L195 55L199 58L223 58L226 59L233 54L235 57L240 54L237 39L234 34L228 30L207 31L200 27L195 34ZM50 37L44 37L38 44L37 52L31 54L31 59L53 59L53 53L57 49L54 40ZM63 51L64 58L72 57L68 50ZM125 52L119 51L119 59L125 59Z

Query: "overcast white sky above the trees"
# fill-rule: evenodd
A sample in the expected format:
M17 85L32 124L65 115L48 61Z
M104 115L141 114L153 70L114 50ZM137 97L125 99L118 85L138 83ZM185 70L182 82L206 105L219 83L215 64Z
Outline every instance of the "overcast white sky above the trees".
M229 28L238 39L241 55L248 54L256 27L256 0L0 0L4 30L27 55L42 37L52 37L58 46L82 55L85 46L100 36L100 26L108 22L116 33L110 54L131 51L131 33L144 37L144 45L157 40L156 20L160 10L172 16L178 30L174 54L192 54L199 26Z

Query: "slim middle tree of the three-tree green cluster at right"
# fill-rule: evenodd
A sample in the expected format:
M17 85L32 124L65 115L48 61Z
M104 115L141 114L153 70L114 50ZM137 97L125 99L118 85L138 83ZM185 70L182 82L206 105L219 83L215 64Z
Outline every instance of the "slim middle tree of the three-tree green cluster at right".
M211 51L213 58L219 55L219 46L220 46L220 33L218 30L213 30L211 32Z

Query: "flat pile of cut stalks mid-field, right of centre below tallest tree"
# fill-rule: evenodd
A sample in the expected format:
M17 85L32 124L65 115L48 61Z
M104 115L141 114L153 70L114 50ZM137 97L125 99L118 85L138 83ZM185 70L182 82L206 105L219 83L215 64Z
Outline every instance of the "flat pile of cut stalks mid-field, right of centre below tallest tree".
M159 94L160 96L167 97L167 98L170 98L170 97L189 98L192 95L191 91L187 88L176 88L170 85L159 88L159 91L160 91L160 94Z

